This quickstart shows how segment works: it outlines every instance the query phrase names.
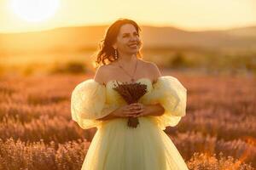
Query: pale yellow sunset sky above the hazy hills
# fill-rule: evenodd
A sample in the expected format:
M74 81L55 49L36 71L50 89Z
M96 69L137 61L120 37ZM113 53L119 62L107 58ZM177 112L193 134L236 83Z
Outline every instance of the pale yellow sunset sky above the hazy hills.
M48 0L49 1L49 0ZM174 26L187 31L225 30L256 26L256 0L55 0L48 18L25 20L50 12L32 10L32 2L46 0L0 0L0 32L40 31L66 26L109 25L119 18L137 21L140 26ZM17 2L22 2L22 4ZM49 2L54 2L51 0ZM21 14L17 14L19 8ZM25 8L24 6L28 6ZM22 18L23 8L23 18ZM41 10L40 9L40 10ZM24 14L27 11L30 13Z

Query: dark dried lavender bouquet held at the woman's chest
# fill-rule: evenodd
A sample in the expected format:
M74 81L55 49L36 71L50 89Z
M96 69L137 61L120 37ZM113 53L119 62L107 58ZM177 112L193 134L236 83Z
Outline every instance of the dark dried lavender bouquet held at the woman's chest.
M119 83L116 81L113 89L117 91L123 97L123 99L125 99L125 102L128 105L137 103L137 101L147 93L147 85L141 84L140 82ZM138 124L139 121L137 117L128 117L128 127L137 127Z

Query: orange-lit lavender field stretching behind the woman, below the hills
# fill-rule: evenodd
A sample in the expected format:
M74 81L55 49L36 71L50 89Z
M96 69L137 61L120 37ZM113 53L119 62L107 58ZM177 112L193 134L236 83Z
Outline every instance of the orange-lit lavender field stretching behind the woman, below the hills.
M188 89L187 115L165 132L189 169L255 169L256 79L165 72ZM71 120L88 75L1 77L0 169L80 169L96 129Z

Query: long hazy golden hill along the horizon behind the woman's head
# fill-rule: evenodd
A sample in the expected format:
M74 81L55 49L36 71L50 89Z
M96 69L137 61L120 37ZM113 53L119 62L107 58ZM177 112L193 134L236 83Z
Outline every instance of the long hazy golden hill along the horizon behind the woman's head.
M0 34L0 54L81 51L97 48L107 26L62 27L49 31ZM201 48L256 51L256 26L225 31L184 31L142 26L144 48Z

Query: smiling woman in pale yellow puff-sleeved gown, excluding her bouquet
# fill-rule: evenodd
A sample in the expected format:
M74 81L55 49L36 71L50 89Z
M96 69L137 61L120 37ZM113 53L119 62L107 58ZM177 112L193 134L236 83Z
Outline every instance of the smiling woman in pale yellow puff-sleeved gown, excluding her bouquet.
M161 76L157 65L140 58L139 31L133 20L115 21L97 54L97 63L103 65L94 79L73 90L73 120L84 129L97 127L84 170L188 169L163 131L185 116L187 90L177 78ZM147 93L128 105L113 89L116 82L140 82ZM127 126L128 117L137 117L139 125Z

